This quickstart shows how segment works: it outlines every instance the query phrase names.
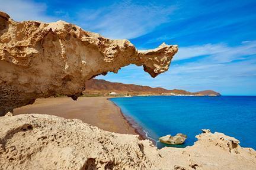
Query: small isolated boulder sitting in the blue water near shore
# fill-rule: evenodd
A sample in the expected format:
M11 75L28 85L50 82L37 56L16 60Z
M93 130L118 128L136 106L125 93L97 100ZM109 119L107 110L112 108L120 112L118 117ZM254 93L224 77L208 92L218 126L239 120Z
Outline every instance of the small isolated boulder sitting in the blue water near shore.
M180 145L185 142L187 139L187 135L183 135L182 133L177 133L175 136L166 135L159 138L159 141L162 143L166 143L169 145Z

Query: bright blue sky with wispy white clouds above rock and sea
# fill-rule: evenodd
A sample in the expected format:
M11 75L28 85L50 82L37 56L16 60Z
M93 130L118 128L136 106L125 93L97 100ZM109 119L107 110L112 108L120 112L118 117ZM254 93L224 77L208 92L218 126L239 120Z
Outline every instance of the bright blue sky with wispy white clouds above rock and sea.
M225 95L256 95L256 1L0 0L16 21L62 19L139 50L179 45L169 71L152 79L127 66L98 79Z

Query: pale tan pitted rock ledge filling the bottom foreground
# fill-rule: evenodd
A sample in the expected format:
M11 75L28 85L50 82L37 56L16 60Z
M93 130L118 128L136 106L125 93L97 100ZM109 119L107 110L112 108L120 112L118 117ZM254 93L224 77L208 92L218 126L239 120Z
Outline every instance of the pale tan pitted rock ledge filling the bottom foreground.
M209 130L193 146L158 150L78 119L7 114L0 125L0 169L256 169L254 149Z

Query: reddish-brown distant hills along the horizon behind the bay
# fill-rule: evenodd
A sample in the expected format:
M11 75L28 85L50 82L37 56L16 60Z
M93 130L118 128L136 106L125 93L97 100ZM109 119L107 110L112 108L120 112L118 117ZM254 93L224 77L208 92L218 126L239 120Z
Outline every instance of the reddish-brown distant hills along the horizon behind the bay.
M111 93L114 92L114 93ZM84 94L98 94L107 96L108 94L148 96L148 95L187 95L187 96L219 96L219 93L213 90L199 91L191 93L185 90L167 90L161 87L140 86L135 84L114 83L106 80L91 79L85 84Z

